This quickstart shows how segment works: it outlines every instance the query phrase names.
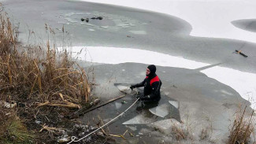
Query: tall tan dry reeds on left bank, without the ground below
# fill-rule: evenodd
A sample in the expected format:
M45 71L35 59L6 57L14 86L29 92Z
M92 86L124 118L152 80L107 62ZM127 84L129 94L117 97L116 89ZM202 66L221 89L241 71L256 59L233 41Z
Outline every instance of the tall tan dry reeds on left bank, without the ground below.
M0 16L0 90L2 98L7 95L22 98L39 96L44 105L80 104L88 102L91 86L87 73L72 61L71 55L63 50L58 51L46 42L46 48L29 47L37 52L17 50L16 29L13 29L5 14ZM46 31L54 35L54 31L46 25ZM64 32L64 30L63 30ZM18 52L19 51L19 52ZM45 57L44 57L45 56Z

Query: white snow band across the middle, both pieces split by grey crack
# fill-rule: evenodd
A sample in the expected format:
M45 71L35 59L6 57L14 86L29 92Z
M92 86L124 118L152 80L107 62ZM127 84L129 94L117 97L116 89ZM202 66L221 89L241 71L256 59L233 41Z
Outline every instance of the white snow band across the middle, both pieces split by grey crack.
M115 48L103 46L74 46L72 56L83 61L91 61L102 64L121 64L135 62L142 64L154 64L166 67L196 69L208 66L202 62L187 60L183 57L173 57L169 54L161 54L149 50L132 48ZM158 57L152 59L152 57ZM241 72L232 68L214 66L201 71L210 78L232 87L242 98L251 102L251 108L256 109L256 74Z

